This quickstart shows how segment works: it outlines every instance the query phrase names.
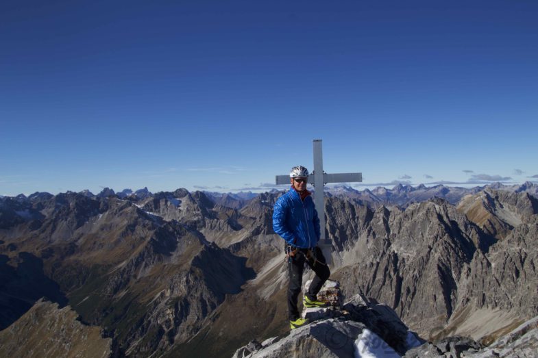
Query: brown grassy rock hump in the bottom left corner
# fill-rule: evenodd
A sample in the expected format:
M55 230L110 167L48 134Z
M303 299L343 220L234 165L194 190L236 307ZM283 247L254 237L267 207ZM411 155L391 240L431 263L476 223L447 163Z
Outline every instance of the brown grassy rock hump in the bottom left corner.
M112 339L99 327L86 326L66 306L38 301L8 329L0 331L1 357L112 356Z

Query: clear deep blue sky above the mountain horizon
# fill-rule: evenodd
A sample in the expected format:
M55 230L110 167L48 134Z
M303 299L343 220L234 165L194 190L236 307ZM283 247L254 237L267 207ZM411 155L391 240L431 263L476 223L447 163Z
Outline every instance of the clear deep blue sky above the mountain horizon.
M2 1L0 194L538 181L537 1Z

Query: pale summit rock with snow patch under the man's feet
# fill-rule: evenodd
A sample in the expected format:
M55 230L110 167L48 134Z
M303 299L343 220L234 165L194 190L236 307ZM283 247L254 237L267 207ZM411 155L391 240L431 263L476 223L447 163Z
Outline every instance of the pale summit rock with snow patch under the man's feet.
M389 307L362 294L339 306L336 281L323 285L318 297L329 298L330 307L304 309L302 315L310 324L261 343L253 340L233 357L401 357L424 342Z

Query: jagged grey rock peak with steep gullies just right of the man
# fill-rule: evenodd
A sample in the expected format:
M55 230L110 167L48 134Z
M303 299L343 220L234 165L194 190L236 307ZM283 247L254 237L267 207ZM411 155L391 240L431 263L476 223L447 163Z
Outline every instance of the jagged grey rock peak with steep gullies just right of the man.
M480 245L476 228L441 200L415 203L405 211L380 207L371 212L352 203L343 209L346 214L334 216L328 227L342 248L334 275L345 294L362 288L423 334L446 322L464 265ZM342 219L353 214L356 222Z

